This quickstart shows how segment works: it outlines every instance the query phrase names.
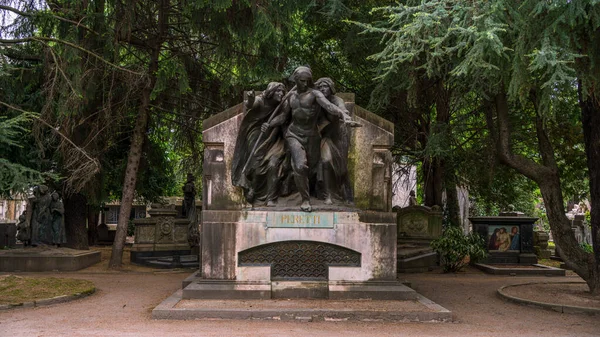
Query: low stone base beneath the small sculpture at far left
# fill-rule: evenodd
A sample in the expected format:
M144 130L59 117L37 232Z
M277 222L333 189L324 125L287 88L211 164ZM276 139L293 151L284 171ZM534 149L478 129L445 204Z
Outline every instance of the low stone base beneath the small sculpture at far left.
M76 271L100 262L100 252L38 246L0 250L0 272Z

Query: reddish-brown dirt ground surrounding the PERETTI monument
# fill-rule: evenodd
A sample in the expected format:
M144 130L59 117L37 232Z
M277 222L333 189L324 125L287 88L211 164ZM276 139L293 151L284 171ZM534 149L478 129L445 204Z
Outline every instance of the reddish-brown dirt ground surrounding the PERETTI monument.
M0 336L600 336L600 315L563 314L496 295L509 284L581 281L572 275L494 276L470 267L460 274L401 275L416 291L451 310L452 323L164 321L152 320L152 309L181 287L192 270L107 273L103 264L74 273L18 273L82 278L94 282L97 292L68 303L0 311Z

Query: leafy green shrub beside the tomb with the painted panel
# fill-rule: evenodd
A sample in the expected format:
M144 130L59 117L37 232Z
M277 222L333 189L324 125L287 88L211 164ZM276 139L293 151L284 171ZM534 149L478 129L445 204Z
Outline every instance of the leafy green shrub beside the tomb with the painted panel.
M485 241L479 234L464 235L460 227L448 227L441 237L431 242L431 247L440 255L445 273L455 273L470 261L477 262L487 256Z

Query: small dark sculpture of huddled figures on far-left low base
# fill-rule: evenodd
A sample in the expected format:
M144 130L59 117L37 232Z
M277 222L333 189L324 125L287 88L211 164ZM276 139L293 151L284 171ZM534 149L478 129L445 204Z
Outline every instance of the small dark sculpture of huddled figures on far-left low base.
M33 197L19 216L17 239L25 246L60 245L67 242L64 222L65 208L58 193L50 193L48 186L33 188Z

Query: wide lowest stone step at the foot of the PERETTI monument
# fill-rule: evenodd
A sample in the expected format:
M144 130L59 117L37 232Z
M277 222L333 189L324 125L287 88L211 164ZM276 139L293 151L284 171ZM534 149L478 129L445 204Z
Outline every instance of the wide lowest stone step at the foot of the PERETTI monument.
M452 313L420 294L413 300L182 299L182 290L152 311L154 319L446 322Z

